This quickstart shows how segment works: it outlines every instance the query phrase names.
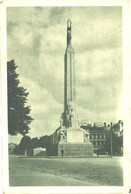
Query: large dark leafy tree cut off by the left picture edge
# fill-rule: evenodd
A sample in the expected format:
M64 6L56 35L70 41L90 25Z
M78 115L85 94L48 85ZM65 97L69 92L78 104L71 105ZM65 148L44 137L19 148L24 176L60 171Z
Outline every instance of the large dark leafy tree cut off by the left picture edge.
M19 86L20 81L16 73L17 66L14 60L7 62L8 72L8 133L25 136L29 132L29 124L32 122L30 106L26 106L28 92Z

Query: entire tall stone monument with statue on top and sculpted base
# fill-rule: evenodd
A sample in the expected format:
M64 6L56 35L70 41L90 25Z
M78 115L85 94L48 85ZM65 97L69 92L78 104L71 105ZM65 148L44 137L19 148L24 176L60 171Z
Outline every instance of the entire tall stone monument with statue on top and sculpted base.
M89 132L80 128L76 113L76 85L74 49L71 45L71 21L67 21L67 48L64 56L64 112L60 127L52 135L52 146L56 155L91 156L93 145Z

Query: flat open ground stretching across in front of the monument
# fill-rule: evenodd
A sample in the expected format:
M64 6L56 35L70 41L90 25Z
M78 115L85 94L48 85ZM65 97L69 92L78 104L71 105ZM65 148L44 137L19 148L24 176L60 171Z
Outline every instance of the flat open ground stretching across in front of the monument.
M63 178L64 184L60 185L100 185L100 186L122 186L123 167L122 158L18 158L9 157L10 184L15 186L15 181L19 177L28 176L25 186L33 186L29 178L37 174L37 179L42 175ZM27 175L26 175L27 173ZM14 179L14 177L16 179ZM47 176L47 178L49 178ZM64 179L65 178L65 179ZM69 178L74 181L72 184ZM50 178L49 178L50 179ZM65 180L67 180L67 183ZM58 179L60 180L60 179ZM36 180L35 180L36 181ZM62 181L62 180L61 180ZM82 182L83 181L83 182ZM21 181L20 181L21 182ZM59 181L58 181L59 182ZM59 183L56 183L59 186ZM41 186L45 186L41 182ZM55 185L50 179L49 184ZM76 185L76 186L77 186ZM20 185L19 185L20 186ZM24 185L22 185L24 186ZM37 185L36 185L37 186ZM39 185L38 185L39 186Z

